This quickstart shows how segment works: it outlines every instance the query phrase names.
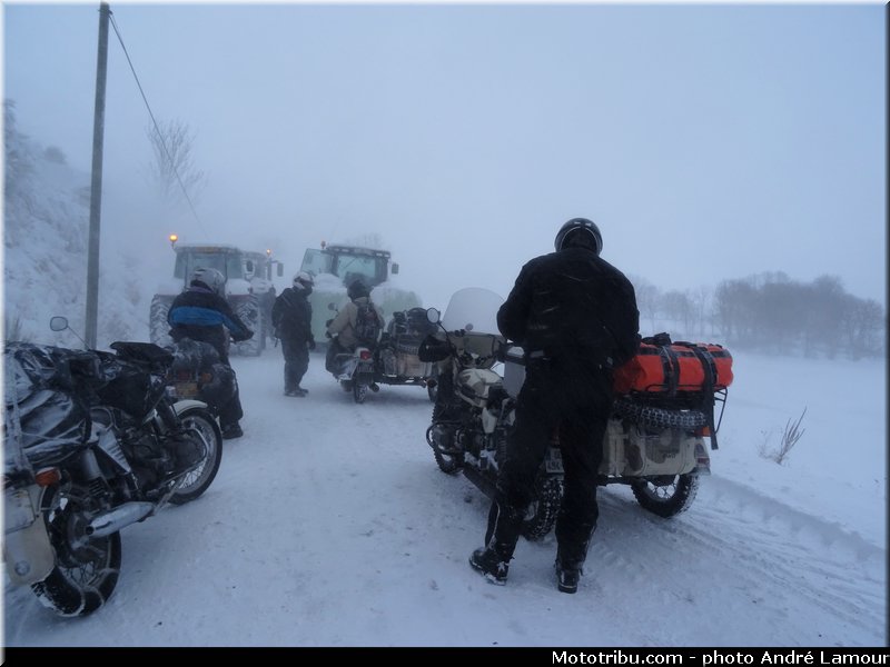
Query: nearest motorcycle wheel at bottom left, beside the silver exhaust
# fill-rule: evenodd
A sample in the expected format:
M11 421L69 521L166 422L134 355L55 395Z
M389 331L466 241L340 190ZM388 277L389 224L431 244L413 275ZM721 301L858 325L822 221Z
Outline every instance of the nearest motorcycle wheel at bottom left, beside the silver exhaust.
M47 607L61 616L86 616L111 596L120 575L120 532L103 537L87 536L89 489L72 485L51 487L43 496L47 524L56 567L49 576L31 585Z

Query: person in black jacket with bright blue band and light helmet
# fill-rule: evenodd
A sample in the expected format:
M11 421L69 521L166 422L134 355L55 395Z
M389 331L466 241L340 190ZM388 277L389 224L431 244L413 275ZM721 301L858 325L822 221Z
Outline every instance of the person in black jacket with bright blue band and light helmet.
M220 361L231 368L228 351L229 336L236 341L241 341L253 338L254 332L226 301L225 287L226 278L217 269L196 269L191 275L189 287L170 305L167 322L170 325L170 337L174 340L190 338L209 342L219 354ZM234 396L225 405L217 406L217 410L222 437L240 438L244 431L238 422L244 417L244 410L238 395L237 379Z

